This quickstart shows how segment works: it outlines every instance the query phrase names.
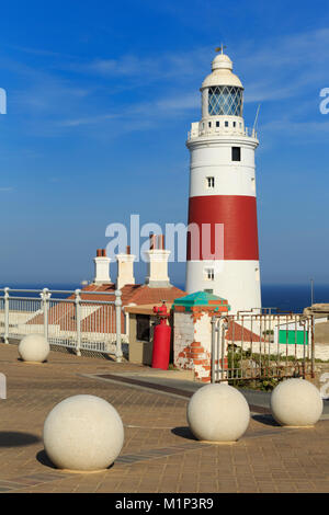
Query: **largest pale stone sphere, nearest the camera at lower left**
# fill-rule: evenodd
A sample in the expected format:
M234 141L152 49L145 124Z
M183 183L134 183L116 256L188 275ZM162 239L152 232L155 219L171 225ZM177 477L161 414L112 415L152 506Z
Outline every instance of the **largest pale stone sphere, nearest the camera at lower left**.
M120 455L124 427L117 411L95 396L73 396L59 402L44 425L45 450L59 469L106 469Z

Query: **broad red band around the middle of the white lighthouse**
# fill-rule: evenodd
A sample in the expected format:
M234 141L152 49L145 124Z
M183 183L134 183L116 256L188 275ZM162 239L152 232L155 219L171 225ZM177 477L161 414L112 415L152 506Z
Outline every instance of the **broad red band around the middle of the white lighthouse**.
M189 203L190 224L198 226L200 236L195 243L195 240L191 242L191 233L188 233L188 261L259 260L256 197L242 195L191 197ZM202 244L203 224L211 225L208 252L204 251ZM218 242L215 249L216 224L224 225L224 253ZM204 237L206 237L205 228Z

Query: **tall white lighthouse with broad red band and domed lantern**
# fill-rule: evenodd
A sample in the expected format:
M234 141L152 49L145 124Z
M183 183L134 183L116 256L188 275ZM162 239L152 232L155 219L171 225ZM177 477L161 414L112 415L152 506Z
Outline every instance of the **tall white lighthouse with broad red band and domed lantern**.
M243 87L223 46L202 83L192 123L186 291L228 300L231 313L261 308L254 128L245 127Z

